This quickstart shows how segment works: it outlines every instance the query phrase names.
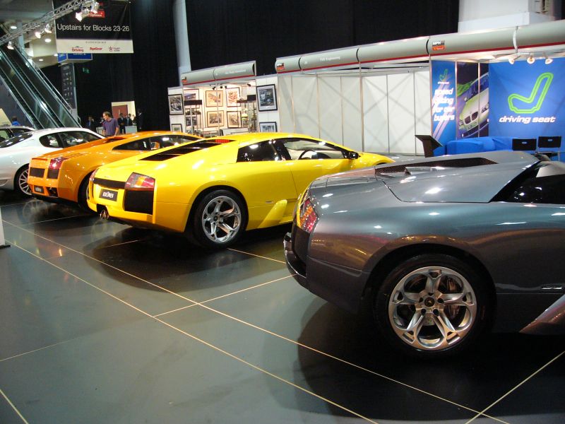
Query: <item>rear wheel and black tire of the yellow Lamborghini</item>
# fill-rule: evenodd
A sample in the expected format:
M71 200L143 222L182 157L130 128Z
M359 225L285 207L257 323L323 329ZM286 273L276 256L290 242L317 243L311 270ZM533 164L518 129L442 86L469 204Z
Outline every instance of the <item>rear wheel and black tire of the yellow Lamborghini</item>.
M192 214L191 236L199 245L223 249L234 244L245 231L247 210L238 194L226 190L215 190L198 201ZM233 231L226 231L226 229Z

